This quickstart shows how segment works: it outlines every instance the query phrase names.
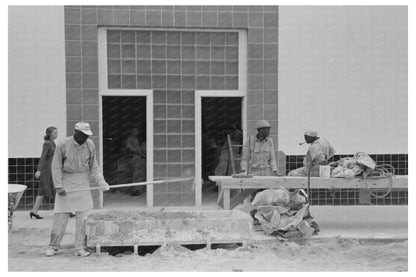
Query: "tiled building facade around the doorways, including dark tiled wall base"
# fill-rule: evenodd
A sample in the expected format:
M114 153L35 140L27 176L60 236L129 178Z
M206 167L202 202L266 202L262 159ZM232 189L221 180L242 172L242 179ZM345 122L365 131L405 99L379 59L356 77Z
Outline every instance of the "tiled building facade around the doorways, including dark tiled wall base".
M151 121L152 137L147 144L152 144L148 149L153 161L148 178L197 173L198 91L240 92L246 134L254 134L256 120L266 119L277 147L278 6L65 6L63 20L66 133L71 135L78 121L89 122L98 156L103 90L130 95L150 91L153 112L146 120ZM282 173L300 166L300 157L278 153ZM407 175L407 154L381 154L374 156L378 163L382 159L397 174ZM31 208L36 196L37 162L34 157L9 159L9 183L28 185L21 208ZM198 204L198 191L189 183L154 185L153 193L155 206ZM336 199L327 193L317 191L312 203L358 204L356 190ZM407 204L407 191L395 193L390 200L373 203ZM96 207L100 197L93 192ZM49 203L43 208L51 207Z

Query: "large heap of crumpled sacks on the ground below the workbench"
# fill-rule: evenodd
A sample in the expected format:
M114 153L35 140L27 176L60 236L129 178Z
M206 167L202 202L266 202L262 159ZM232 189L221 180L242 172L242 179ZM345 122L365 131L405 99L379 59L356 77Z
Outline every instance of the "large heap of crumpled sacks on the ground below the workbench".
M251 204L252 217L268 235L293 238L319 232L318 224L312 221L306 193L301 189L266 189L257 193Z

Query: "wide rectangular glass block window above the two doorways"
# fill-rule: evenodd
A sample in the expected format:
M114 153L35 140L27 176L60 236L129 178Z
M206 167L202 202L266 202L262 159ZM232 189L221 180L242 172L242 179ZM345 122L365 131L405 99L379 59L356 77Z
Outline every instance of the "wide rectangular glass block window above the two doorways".
M238 33L107 31L109 89L237 90Z

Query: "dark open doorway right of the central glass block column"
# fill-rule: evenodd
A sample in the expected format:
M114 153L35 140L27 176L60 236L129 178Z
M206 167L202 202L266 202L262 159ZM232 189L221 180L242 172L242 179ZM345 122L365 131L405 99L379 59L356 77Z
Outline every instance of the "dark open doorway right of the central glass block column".
M231 136L232 144L242 144L242 100L242 97L202 98L203 198L217 189L208 176L232 174L227 135ZM241 149L233 149L233 154L238 158ZM235 161L237 171L239 164L239 161Z

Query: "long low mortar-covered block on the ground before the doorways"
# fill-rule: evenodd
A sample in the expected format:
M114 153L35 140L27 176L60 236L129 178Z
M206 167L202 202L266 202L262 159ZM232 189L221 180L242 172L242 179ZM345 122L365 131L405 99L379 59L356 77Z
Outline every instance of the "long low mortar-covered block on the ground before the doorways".
M252 235L252 219L241 211L94 210L87 219L91 246L244 241Z

